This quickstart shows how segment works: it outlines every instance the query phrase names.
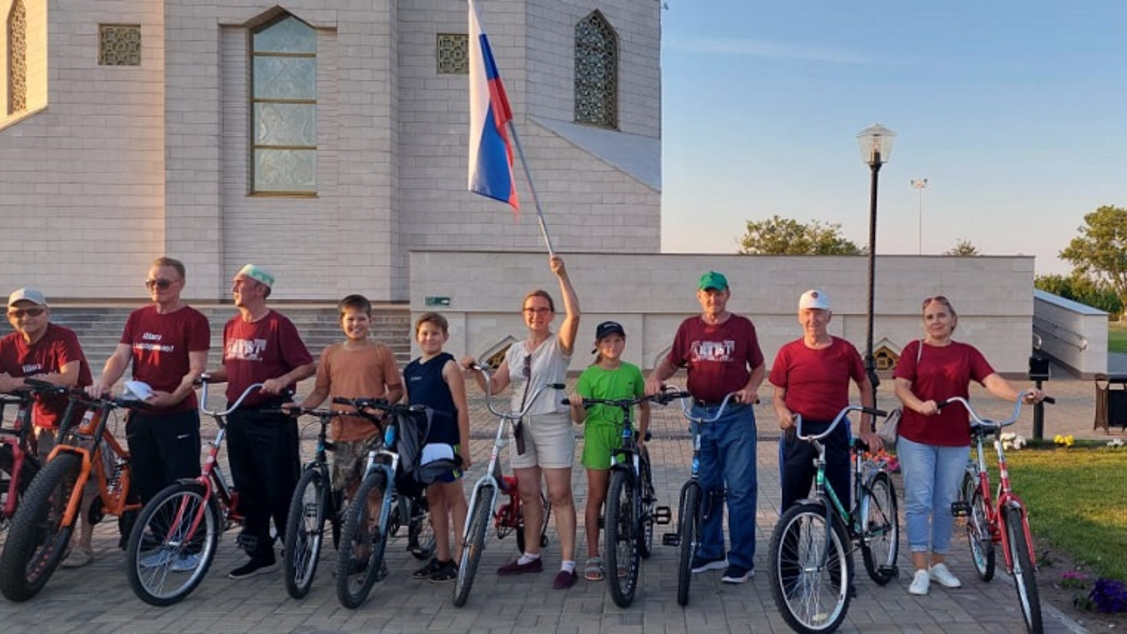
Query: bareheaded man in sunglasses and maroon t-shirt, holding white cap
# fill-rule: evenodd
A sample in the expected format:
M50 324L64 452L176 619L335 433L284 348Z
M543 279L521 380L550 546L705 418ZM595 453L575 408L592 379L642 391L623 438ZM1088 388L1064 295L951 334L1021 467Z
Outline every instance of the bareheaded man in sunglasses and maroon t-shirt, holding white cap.
M101 377L87 388L91 396L107 394L131 366L133 380L152 388L145 399L150 408L131 411L125 423L142 502L178 479L199 475L199 411L192 384L207 367L211 326L180 299L184 284L184 263L153 261L145 279L152 303L130 314Z

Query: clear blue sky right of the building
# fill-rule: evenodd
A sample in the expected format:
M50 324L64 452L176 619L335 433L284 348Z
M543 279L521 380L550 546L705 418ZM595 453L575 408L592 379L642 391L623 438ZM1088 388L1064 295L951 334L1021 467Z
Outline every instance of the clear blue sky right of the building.
M867 246L873 123L878 255L966 239L1066 274L1084 214L1127 208L1122 0L664 2L663 252L734 253L774 214Z

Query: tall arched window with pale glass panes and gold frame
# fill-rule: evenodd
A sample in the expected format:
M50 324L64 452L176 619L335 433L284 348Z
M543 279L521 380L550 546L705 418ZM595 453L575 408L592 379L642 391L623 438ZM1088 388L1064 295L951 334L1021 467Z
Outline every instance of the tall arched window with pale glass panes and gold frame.
M283 14L251 32L251 193L317 193L317 32Z

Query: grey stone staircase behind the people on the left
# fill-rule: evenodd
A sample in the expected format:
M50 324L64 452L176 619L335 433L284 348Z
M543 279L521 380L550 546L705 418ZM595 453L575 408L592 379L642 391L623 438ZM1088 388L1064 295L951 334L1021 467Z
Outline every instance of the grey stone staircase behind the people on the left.
M137 305L140 306L140 305ZM137 306L52 306L51 320L78 333L82 350L97 377L106 359L117 347L125 327L125 319ZM193 305L207 316L212 328L212 350L207 367L220 363L223 350L223 325L238 310L223 305ZM336 307L279 306L274 307L289 317L314 359L319 359L325 346L344 338ZM379 306L372 309L372 336L385 343L396 353L396 361L402 368L410 361L411 326L410 309L407 306Z

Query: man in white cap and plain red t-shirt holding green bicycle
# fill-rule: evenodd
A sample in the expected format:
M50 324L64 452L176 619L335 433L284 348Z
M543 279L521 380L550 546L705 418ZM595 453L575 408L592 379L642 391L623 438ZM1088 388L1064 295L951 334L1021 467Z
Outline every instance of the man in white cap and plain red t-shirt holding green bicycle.
M783 430L779 439L779 460L782 469L782 502L779 512L789 509L796 501L806 497L814 483L814 444L798 440L795 414L802 416L802 434L815 434L837 417L849 406L849 381L852 379L861 391L861 404L873 406L872 384L864 373L861 355L850 342L829 334L827 327L833 318L829 298L824 291L809 290L798 300L798 323L802 325L802 337L792 341L775 354L771 367L771 384L774 386L775 416ZM871 416L861 415L861 439L872 450L880 448L880 438L872 432ZM849 421L826 437L826 479L837 499L849 508L850 490L850 443Z

